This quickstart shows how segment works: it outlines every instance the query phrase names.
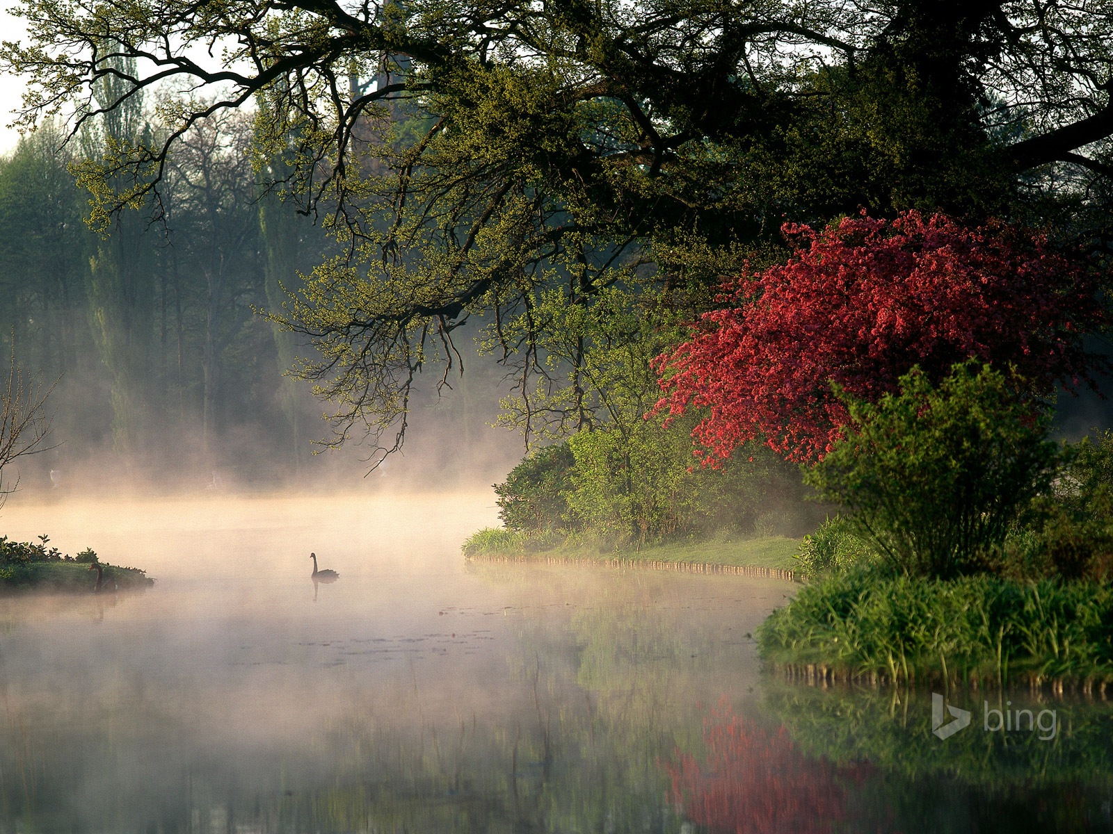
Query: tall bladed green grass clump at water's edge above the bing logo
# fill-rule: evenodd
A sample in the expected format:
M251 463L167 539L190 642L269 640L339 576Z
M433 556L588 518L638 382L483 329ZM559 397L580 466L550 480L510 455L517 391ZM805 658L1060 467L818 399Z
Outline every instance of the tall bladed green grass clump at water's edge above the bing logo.
M772 663L890 682L1113 681L1113 588L851 572L801 588L758 646Z

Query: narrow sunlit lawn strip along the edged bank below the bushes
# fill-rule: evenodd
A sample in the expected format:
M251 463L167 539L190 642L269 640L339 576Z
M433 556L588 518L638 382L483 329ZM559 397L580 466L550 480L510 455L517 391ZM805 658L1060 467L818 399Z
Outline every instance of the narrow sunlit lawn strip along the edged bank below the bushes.
M588 562L678 569L717 568L730 573L756 569L796 578L799 566L795 556L799 546L799 539L765 536L719 537L614 550L574 538L539 542L502 528L487 528L471 536L462 549L466 558L476 560Z

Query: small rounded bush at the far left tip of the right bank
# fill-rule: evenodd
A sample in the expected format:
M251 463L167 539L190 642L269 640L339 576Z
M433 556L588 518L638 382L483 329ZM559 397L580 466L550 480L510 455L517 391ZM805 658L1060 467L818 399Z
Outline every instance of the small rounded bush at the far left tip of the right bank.
M568 524L567 493L575 463L568 443L534 449L495 484L499 517L508 530L542 534Z

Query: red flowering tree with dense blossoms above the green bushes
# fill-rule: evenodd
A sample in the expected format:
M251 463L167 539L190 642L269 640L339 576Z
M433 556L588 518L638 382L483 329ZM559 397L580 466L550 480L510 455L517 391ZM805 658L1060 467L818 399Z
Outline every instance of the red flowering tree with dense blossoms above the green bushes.
M654 414L707 409L692 433L705 463L755 438L821 458L847 418L831 381L876 401L914 365L934 384L976 357L1015 366L1043 394L1093 385L1082 337L1107 321L1095 272L1040 236L915 211L781 231L800 244L789 261L725 285L731 307L656 360Z

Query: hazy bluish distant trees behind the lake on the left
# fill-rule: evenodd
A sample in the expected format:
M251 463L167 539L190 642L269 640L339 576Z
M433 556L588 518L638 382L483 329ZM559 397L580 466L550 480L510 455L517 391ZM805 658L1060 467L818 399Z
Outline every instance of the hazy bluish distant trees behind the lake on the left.
M327 238L258 185L240 112L188 130L158 199L91 229L83 167L165 130L154 110L132 100L68 143L47 122L0 158L0 334L23 369L59 380L63 460L111 449L207 474L249 437L296 468L321 434L305 426L313 400L283 374L292 335L256 311L296 289Z

